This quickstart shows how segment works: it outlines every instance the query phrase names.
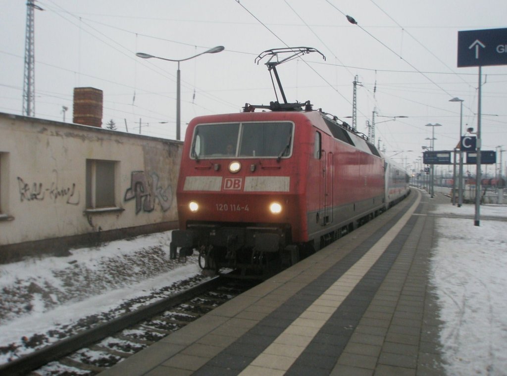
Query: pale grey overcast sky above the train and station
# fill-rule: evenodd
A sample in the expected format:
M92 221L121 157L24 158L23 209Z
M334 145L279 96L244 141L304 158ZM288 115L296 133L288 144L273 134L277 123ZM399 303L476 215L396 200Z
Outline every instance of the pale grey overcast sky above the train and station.
M357 75L357 129L368 133L366 121L376 109L375 143L380 138L388 156L406 157L408 163L429 145L428 123L443 125L435 128L436 150L458 142L460 104L449 99L464 100L463 128L477 128L478 68L457 67L458 31L507 27L505 0L36 4L44 9L35 11L38 118L62 121L67 106L65 120L71 122L73 88L95 87L104 92L104 125L113 120L125 131L126 122L129 132L138 133L140 121L142 134L174 139L177 63L140 59L136 52L183 59L225 46L221 53L180 63L183 134L195 116L276 100L267 59L256 64L255 58L272 48L305 46L326 60L313 53L278 66L287 100L310 100L314 108L351 123L346 117L352 115ZM0 111L21 115L26 2L0 0L0 5ZM482 72L483 149L507 149L507 65L485 66ZM390 120L394 116L408 118Z

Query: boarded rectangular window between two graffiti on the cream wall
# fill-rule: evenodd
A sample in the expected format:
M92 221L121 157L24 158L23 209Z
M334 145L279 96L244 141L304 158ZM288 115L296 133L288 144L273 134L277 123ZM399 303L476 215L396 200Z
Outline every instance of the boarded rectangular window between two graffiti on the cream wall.
M86 160L86 208L116 207L115 161Z

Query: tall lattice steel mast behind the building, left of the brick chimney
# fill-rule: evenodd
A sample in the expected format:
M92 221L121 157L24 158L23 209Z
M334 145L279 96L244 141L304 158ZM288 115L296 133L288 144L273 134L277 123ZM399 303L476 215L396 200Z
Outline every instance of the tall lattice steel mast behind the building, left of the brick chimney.
M43 9L35 0L26 3L25 74L23 80L23 115L35 116L35 44L33 40L33 10Z

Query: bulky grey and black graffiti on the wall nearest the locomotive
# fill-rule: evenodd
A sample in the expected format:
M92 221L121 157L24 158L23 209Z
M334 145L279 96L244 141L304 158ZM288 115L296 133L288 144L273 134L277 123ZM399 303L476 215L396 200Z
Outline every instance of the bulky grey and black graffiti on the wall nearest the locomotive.
M156 172L150 175L144 171L133 171L130 176L130 187L125 192L125 201L135 199L135 213L141 210L151 212L158 201L163 211L170 209L172 204L172 187L164 189Z

